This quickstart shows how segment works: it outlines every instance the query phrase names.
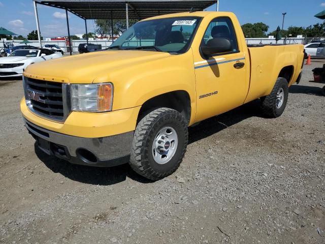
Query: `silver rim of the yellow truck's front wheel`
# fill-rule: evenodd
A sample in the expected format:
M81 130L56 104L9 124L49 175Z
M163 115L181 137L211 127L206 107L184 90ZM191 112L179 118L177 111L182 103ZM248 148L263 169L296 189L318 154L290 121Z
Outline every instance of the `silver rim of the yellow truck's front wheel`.
M157 164L168 163L176 153L178 136L172 127L161 129L152 143L152 156Z

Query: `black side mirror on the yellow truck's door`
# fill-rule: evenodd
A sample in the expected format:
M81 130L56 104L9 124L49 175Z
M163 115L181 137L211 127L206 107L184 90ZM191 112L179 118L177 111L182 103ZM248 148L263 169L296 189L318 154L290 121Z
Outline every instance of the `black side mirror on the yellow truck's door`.
M212 55L230 51L232 51L232 44L227 38L213 38L208 41L206 46L201 46L201 52L204 55Z

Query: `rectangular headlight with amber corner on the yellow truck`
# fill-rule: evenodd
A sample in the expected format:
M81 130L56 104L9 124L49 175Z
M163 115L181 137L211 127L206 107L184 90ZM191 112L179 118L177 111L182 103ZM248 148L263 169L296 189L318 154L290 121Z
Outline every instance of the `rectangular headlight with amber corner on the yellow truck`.
M112 105L112 83L71 85L73 111L107 112L112 110Z

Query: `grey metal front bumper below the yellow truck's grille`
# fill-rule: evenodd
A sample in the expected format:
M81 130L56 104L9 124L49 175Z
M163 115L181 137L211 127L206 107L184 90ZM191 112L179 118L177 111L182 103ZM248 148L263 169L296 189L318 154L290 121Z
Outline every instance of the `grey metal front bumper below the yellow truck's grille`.
M25 127L48 155L74 164L112 167L129 161L134 132L101 138L83 138L53 132L24 118Z

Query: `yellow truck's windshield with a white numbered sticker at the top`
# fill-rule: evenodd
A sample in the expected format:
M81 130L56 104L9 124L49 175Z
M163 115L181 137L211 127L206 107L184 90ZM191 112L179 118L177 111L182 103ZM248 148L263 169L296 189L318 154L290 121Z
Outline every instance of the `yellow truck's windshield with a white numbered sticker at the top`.
M175 17L141 21L128 28L110 48L184 53L200 20L200 17Z

